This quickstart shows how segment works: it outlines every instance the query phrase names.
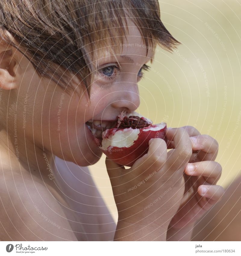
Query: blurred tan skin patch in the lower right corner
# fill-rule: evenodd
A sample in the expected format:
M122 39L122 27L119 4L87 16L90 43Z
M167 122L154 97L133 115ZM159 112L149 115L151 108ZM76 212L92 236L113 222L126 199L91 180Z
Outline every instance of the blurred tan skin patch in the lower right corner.
M222 199L196 222L192 241L241 241L241 176L233 181Z

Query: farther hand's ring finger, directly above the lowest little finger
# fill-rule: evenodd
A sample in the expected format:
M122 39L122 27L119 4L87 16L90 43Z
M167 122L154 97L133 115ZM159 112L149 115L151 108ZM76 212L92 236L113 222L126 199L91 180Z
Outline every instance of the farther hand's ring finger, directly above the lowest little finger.
M184 172L190 176L204 176L208 183L216 184L221 177L222 166L214 161L189 163Z

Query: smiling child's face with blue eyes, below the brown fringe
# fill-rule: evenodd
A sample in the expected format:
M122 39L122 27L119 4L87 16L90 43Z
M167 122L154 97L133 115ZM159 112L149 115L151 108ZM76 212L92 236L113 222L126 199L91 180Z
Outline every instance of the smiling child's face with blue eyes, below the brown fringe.
M64 93L49 79L40 81L36 72L28 68L29 74L26 71L23 75L25 89L20 87L19 90L21 100L18 107L24 109L27 105L25 135L33 139L34 131L35 145L42 148L43 143L45 151L52 151L54 155L80 166L99 160L101 141L96 138L101 138L101 131L97 131L94 137L87 124L93 121L98 126L97 121L102 122L105 130L104 127L117 120L121 111L131 112L138 108L137 83L141 79L141 68L152 57L151 50L146 57L139 30L136 27L129 30L121 54L99 59L100 72L91 85L89 97L81 86L76 87L74 93ZM24 104L29 83L28 100Z

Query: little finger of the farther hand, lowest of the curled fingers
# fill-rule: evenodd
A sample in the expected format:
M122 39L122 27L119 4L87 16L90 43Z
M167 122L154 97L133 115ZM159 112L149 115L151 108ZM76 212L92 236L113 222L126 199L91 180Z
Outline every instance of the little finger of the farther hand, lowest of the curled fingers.
M224 188L219 185L201 185L198 187L198 193L202 197L209 198L209 203L215 204L222 198Z

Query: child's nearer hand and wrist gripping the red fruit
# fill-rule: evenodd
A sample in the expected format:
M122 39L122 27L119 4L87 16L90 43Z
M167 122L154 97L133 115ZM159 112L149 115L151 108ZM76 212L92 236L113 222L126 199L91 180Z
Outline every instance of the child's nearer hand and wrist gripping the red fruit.
M192 155L189 134L178 128L174 149L162 139L149 141L146 155L130 169L106 159L118 223L115 240L165 240L168 225L184 193L183 170Z

